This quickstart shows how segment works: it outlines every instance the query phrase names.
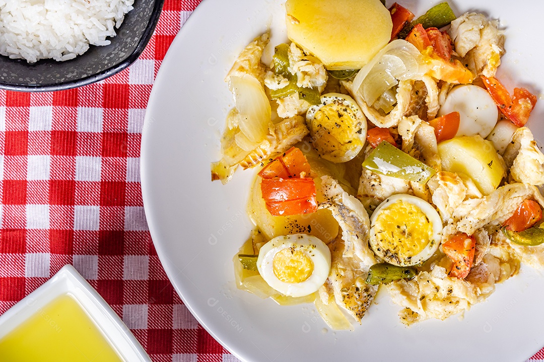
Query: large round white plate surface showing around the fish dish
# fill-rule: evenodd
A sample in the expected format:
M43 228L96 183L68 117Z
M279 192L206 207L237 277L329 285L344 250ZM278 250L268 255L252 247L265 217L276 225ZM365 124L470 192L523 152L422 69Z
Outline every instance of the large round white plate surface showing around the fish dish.
M416 15L438 1L399 1ZM391 5L388 1L387 5ZM541 94L544 73L538 0L456 0L457 15L499 18L507 53L498 78L512 91ZM544 277L523 267L464 317L406 328L386 293L354 332L331 331L312 304L280 307L237 290L232 257L252 225L246 201L252 170L227 185L210 178L233 100L224 82L238 53L267 28L285 39L281 0L205 0L184 24L162 63L147 107L141 183L147 221L166 274L186 306L243 361L524 361L544 346ZM537 139L544 101L531 116Z

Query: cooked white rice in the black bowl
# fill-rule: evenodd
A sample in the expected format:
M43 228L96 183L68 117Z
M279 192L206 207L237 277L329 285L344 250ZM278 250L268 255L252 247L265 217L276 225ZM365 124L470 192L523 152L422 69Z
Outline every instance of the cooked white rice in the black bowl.
M134 0L0 0L0 54L63 61L109 45Z

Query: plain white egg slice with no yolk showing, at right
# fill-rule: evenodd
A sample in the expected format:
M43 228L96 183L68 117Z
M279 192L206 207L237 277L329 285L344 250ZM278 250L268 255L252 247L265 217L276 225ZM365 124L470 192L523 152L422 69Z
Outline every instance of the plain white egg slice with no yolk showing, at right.
M487 137L493 130L499 116L497 105L490 94L476 85L466 84L453 88L438 116L459 112L459 130L455 137L480 135Z

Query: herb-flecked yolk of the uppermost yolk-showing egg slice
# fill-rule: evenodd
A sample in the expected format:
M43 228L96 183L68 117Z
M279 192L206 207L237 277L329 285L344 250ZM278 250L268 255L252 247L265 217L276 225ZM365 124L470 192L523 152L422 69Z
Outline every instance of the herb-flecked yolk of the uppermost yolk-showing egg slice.
M348 106L329 103L321 107L314 116L314 131L326 139L326 147L334 150L345 143L359 143L354 138L353 126L357 116ZM325 142L321 142L325 143Z

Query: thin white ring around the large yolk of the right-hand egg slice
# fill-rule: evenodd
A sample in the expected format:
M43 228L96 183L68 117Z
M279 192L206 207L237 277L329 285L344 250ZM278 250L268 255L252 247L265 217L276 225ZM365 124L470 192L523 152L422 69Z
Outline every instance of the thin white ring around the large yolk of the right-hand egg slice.
M421 211L432 223L432 238L429 240L429 243L423 248L423 250L416 255L398 255L390 250L384 250L379 243L378 237L376 236L377 232L384 232L384 230L377 230L375 225L376 220L379 218L384 208L400 201L407 202L421 209ZM442 219L438 212L425 200L409 194L397 194L387 198L375 209L372 217L370 217L370 225L370 248L377 256L384 259L385 262L398 266L411 266L423 263L436 252L438 246L440 246L442 238Z

